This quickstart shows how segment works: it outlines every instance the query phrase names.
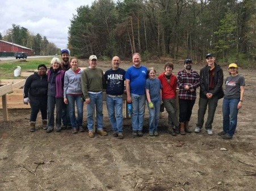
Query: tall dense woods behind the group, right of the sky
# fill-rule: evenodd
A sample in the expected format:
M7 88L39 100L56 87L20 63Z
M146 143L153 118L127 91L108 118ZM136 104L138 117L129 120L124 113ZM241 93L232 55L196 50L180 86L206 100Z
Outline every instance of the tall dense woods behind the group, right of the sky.
M70 21L68 47L81 58L256 60L255 0L97 0Z

